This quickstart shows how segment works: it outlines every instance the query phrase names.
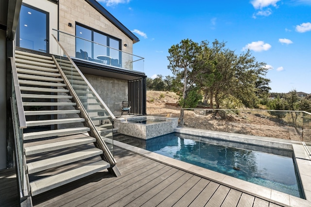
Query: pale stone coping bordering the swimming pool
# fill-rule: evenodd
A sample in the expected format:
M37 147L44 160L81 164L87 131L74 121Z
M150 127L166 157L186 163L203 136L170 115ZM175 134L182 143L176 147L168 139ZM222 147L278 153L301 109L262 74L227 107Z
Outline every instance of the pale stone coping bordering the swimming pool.
M150 152L145 149L141 149L136 146L132 146L126 143L121 143L118 141L113 141L113 144L131 151L133 153L137 153L149 159L153 159L159 161L161 163L170 165L177 169L189 172L194 175L198 175L200 177L204 177L211 181L217 182L219 184L225 185L227 187L243 191L252 195L255 195L259 198L268 200L270 202L283 205L283 206L291 206L291 207L301 207L301 206L311 206L311 157L306 152L302 142L291 141L291 140L280 140L276 138L269 137L259 137L252 135L243 135L243 134L235 134L229 132L220 132L220 131L211 131L204 129L193 129L187 127L177 127L174 130L177 133L189 134L189 135L197 135L197 136L212 136L212 138L216 139L225 139L232 141L232 138L239 138L240 140L246 140L249 142L254 141L256 144L265 143L263 146L267 146L267 143L274 145L284 146L285 149L288 147L292 147L294 152L294 158L297 164L300 180L303 186L303 190L305 193L305 197L307 200L295 197L293 195L289 195L280 191L275 191L263 186L259 186L254 183L250 183L229 175L224 175L218 172L214 172L199 166L195 166L189 164L187 162L183 162L180 160L176 160L173 158L166 157L164 155L160 155L154 152ZM201 134L201 135L199 135ZM239 142L239 141L238 141ZM242 141L241 141L242 142ZM247 142L246 142L247 143ZM260 144L261 145L261 144ZM277 146L272 146L277 147ZM279 147L277 147L279 148Z

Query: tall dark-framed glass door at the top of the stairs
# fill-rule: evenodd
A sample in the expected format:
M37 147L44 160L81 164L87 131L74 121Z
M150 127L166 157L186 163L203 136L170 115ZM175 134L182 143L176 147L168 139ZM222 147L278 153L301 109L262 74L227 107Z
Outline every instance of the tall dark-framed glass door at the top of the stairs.
M49 52L49 13L23 4L17 28L17 46Z

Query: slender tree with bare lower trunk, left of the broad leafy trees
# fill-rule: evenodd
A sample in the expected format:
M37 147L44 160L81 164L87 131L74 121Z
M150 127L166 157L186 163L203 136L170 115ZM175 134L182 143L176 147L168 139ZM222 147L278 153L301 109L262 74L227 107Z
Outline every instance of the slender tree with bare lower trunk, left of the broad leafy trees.
M182 99L187 99L187 93L196 81L197 71L193 68L196 57L200 54L200 47L198 43L189 39L182 40L179 44L173 45L169 49L170 56L168 56L170 69L175 76L177 82L183 83ZM183 102L185 104L185 101ZM181 106L185 108L185 105ZM184 124L184 110L180 111L180 123Z

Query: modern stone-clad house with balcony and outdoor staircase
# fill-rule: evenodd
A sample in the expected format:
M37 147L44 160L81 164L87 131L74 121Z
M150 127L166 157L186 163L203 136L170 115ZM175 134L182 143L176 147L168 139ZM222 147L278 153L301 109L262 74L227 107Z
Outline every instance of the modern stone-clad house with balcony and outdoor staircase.
M0 169L19 166L21 202L62 185L46 186L52 176L35 183L40 172L80 159L87 159L85 173L74 179L104 168L118 175L103 139L122 101L131 102L132 114L146 114L144 59L132 54L138 41L96 0L0 0ZM55 137L62 139L39 142ZM71 146L82 151L53 158ZM78 153L84 158L72 159ZM59 177L74 174L67 171Z

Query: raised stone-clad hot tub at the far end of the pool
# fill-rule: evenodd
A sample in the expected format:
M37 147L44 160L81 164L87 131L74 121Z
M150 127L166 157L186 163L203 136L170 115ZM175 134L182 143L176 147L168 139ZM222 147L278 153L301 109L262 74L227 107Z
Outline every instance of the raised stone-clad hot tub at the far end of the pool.
M138 116L118 118L114 121L114 126L121 134L150 139L164 134L174 132L178 126L178 118Z

